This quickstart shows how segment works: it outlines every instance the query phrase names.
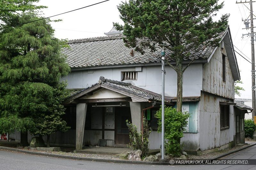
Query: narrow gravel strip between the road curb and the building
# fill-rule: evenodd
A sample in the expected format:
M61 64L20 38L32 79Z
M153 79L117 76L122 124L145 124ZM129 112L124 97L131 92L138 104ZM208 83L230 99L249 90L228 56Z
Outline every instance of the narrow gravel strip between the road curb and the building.
M252 139L250 141L253 141ZM245 141L246 143L246 141ZM248 144L244 144L243 146L235 146L234 148L231 149L224 149L222 151L219 152L212 152L212 153L205 153L201 156L197 156L197 155L188 155L188 159L213 159L216 158L224 153L228 153L228 152L232 152L232 151L236 151L239 150L245 146L247 146ZM3 145L2 145L3 146ZM6 145L5 145L6 146ZM7 146L8 147L8 146ZM10 146L9 146L10 147ZM11 146L13 147L13 146ZM13 147L16 148L16 147ZM24 148L19 148L19 149L24 149ZM25 150L25 149L24 149ZM27 150L27 149L26 149ZM29 149L28 149L29 150ZM32 150L31 150L32 151ZM76 157L89 157L89 158L102 158L102 159L119 159L116 158L115 155L100 155L100 154L89 154L89 153L74 153L72 152L71 148L62 148L62 151L66 151L66 152L44 152L44 151L37 151L37 150L33 150L33 152L42 152L42 153L54 153L54 154L59 154L59 155L66 155L66 156L76 156ZM179 158L169 158L169 159L179 159Z

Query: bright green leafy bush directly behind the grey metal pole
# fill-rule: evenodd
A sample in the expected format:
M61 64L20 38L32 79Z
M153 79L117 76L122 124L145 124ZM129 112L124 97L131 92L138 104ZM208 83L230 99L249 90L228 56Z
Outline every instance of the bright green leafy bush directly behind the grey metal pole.
M162 107L156 112L158 118L158 132L162 131ZM166 152L174 156L180 156L180 138L188 124L189 113L177 112L176 108L164 109L164 139Z

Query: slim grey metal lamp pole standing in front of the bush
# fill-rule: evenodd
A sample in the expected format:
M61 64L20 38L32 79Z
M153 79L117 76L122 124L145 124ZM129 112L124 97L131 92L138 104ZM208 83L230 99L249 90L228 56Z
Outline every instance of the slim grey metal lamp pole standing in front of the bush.
M161 51L161 62L162 62L162 147L161 147L161 152L162 152L162 160L164 159L164 74L165 74L165 70L164 70L164 55L165 55L165 51L164 48L167 46L166 44L160 44L160 47L162 47L162 51Z

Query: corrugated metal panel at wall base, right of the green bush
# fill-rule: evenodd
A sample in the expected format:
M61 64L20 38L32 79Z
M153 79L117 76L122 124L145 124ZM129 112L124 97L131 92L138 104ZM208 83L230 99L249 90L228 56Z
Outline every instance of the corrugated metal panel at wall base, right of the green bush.
M183 151L197 151L199 149L199 133L183 133L180 139Z

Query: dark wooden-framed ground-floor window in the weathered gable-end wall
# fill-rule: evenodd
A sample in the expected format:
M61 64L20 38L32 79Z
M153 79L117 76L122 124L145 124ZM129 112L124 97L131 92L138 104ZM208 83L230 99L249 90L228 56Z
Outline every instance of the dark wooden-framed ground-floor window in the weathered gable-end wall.
M229 129L229 105L220 105L220 130Z

